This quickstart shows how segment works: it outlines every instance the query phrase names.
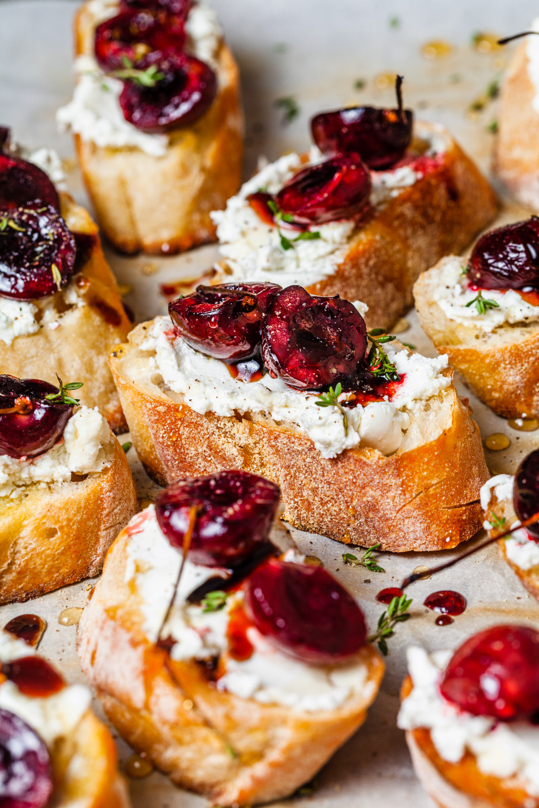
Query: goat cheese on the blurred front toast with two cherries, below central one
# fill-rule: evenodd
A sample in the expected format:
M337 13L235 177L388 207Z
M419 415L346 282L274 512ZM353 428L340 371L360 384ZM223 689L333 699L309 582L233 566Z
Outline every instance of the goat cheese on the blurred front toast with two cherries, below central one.
M174 591L181 553L172 548L158 526L155 508L150 505L134 516L128 525L125 581L134 582L144 616L142 626L150 642L156 642L158 631ZM300 562L297 553L288 551L287 562ZM223 654L225 674L217 680L217 688L262 704L284 705L291 709L318 712L335 709L354 692L371 696L368 668L361 661L339 667L310 666L291 659L271 646L255 629L247 629L247 638L255 651L250 659L238 662L226 653L226 629L229 613L242 602L242 593L227 598L224 608L204 612L199 604L189 604L187 596L224 570L204 567L187 560L183 566L179 591L163 636L175 640L172 659L211 659Z

